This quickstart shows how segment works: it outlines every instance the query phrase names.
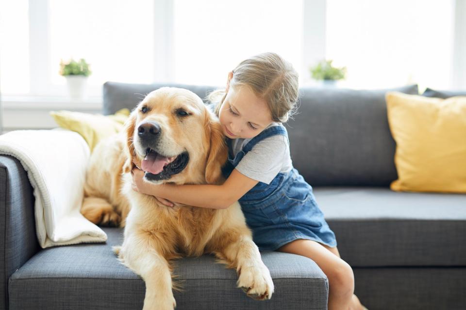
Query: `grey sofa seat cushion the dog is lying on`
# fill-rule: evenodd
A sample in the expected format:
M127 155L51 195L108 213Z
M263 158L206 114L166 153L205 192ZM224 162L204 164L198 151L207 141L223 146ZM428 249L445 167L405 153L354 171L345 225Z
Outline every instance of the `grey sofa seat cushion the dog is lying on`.
M119 263L111 246L121 244L122 230L105 228L105 244L80 244L41 250L9 281L10 309L142 309L145 284ZM328 281L312 260L293 254L262 252L275 293L255 301L236 288L236 272L213 256L176 261L183 292L182 309L327 309Z

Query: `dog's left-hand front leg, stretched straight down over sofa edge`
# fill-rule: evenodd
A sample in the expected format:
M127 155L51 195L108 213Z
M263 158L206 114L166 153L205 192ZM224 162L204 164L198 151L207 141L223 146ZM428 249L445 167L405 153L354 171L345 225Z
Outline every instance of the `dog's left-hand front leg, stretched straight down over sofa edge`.
M143 310L175 308L168 262L152 247L147 238L125 239L118 257L146 282Z

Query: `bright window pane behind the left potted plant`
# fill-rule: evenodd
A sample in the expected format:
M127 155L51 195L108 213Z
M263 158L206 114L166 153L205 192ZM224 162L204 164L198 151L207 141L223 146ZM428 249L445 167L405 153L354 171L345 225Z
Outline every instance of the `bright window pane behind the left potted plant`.
M90 85L152 82L153 0L49 0L49 12L53 85L65 84L57 72L71 57L91 64Z

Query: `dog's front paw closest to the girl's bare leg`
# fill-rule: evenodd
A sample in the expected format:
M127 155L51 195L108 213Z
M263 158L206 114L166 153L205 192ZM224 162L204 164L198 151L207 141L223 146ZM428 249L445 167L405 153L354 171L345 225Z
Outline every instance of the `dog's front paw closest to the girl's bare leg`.
M237 283L238 287L253 299L264 300L272 297L273 281L264 264L250 267L243 266Z

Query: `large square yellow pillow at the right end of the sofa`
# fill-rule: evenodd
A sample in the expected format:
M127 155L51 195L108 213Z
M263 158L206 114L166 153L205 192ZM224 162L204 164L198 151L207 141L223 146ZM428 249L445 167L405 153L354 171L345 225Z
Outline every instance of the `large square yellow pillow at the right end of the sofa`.
M395 191L466 193L466 97L386 94Z

